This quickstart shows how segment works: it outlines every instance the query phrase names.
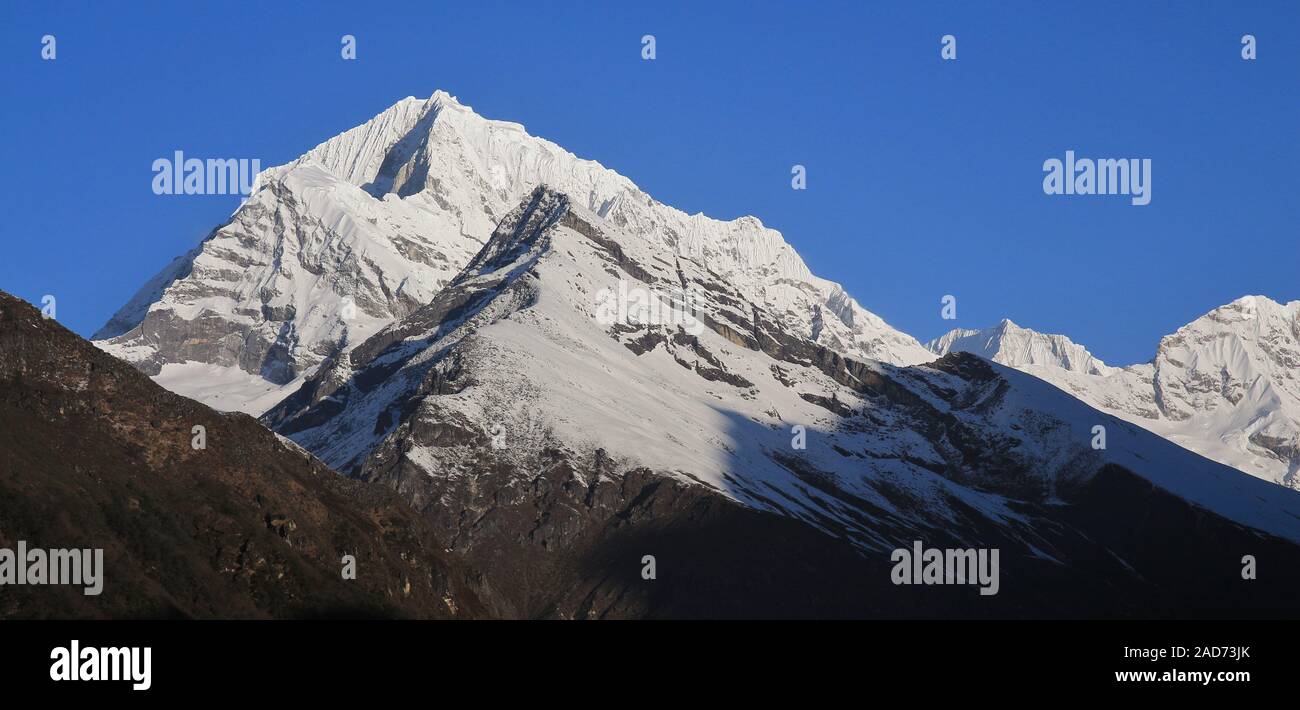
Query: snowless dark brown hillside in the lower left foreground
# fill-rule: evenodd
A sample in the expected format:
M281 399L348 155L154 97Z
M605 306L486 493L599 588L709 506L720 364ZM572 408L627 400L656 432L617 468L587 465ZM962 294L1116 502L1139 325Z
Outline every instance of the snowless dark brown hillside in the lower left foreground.
M393 492L164 390L0 293L0 547L18 541L103 549L104 586L0 586L0 618L489 612Z

